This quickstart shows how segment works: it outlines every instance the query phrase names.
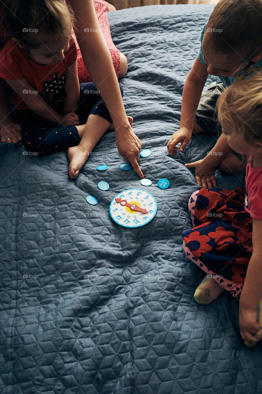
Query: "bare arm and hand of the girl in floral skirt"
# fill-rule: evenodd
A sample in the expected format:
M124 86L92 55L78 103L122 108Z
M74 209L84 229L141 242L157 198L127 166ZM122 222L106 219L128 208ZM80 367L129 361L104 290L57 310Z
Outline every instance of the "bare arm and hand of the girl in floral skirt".
M239 301L239 327L242 339L256 342L262 322L257 320L257 307L262 297L262 220L253 219L253 253L247 267L244 286Z

